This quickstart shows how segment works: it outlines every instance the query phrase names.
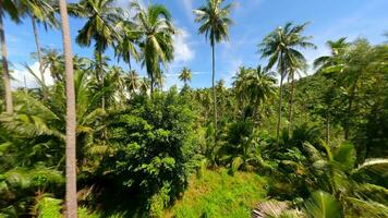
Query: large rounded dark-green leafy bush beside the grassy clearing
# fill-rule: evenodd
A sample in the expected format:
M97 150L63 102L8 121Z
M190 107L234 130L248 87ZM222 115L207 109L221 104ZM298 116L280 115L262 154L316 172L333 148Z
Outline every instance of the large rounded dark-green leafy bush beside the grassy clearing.
M151 202L169 184L167 193L174 199L186 186L194 166L194 119L174 88L151 98L134 97L128 109L109 117L108 143L114 152L105 157L105 175L122 185L117 189L130 190Z

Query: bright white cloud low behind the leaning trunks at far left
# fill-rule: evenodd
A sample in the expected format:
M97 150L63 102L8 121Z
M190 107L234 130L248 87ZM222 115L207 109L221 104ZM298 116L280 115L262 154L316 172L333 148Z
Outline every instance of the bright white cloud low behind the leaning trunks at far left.
M34 64L28 66L35 73L35 75L41 80L40 72L39 72L39 62L35 62ZM11 75L13 77L13 80L11 81L12 88L19 88L25 86L27 88L36 88L39 86L35 76L32 73L29 73L29 71L23 65L20 65L20 68L14 69L11 72ZM45 71L45 82L46 85L53 84L53 80L48 69Z

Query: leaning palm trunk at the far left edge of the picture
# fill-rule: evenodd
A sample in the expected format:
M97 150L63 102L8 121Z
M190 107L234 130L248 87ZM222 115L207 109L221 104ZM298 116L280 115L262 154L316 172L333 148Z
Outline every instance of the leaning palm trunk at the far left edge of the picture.
M5 93L5 112L9 114L13 113L13 102L12 102L12 90L10 84L10 71L8 69L8 55L7 55L7 43L4 34L4 25L2 17L2 0L0 0L0 46L1 46L1 60L2 60L2 80L4 83L4 93Z

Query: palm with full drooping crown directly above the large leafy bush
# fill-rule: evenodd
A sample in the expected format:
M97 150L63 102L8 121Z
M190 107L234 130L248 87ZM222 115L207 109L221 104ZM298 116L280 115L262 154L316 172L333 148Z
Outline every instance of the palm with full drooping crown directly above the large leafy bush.
M173 60L174 27L171 22L170 12L161 4L149 4L146 9L138 2L133 2L131 7L136 11L135 22L142 37L140 39L142 50L142 65L146 66L150 78L150 93L157 78L161 78L160 63L166 68L167 63Z

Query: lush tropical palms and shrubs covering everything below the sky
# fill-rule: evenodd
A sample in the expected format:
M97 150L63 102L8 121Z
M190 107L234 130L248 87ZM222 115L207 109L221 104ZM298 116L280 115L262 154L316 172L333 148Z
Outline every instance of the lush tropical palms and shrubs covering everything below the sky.
M165 5L0 1L1 27L58 27L60 8L64 41L40 46L33 26L40 72L25 68L38 85L12 90L0 29L0 217L387 217L387 43L328 40L311 68L307 23L287 23L257 41L264 66L229 84L215 80L215 47L232 5L194 11L213 86L184 66L184 86L163 90L177 33ZM93 56L71 55L66 10Z

